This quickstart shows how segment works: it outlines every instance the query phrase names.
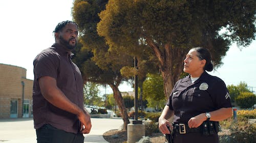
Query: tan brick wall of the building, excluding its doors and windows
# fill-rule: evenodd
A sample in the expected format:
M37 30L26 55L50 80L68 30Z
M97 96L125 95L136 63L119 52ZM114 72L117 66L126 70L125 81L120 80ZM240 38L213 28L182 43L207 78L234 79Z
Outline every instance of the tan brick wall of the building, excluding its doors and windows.
M30 100L32 109L33 80L26 78L27 70L22 67L0 64L0 118L10 118L11 100L18 100L18 118L22 118L22 95Z

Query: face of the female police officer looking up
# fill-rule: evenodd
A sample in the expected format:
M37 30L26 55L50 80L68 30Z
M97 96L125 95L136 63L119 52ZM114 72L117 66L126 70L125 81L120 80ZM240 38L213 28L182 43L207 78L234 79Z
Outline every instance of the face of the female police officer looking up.
M200 77L203 73L203 67L205 65L205 60L200 60L197 56L197 51L194 49L189 50L184 60L183 71L189 73L191 77Z

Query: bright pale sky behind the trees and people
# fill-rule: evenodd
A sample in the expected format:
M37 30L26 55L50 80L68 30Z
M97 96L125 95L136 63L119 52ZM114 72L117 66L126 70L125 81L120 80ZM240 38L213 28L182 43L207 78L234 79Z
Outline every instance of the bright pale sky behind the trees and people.
M27 69L27 78L33 79L35 56L54 43L52 32L57 23L72 20L72 6L73 0L0 1L0 64L23 67ZM223 65L209 74L220 77L226 85L243 81L256 91L256 40L240 48L232 44L222 60ZM124 83L119 90L128 92L133 88ZM109 94L112 90L101 88L100 92Z

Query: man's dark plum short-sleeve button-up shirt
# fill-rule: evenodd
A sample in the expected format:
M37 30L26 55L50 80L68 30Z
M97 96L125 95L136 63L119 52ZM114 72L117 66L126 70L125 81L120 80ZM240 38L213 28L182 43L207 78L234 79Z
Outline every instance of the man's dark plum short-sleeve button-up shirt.
M70 53L61 45L41 51L33 62L33 118L35 129L44 124L50 124L55 128L67 132L77 133L80 122L76 115L59 109L49 103L41 94L38 79L50 76L56 79L57 87L66 97L83 108L83 81L80 70L71 61Z

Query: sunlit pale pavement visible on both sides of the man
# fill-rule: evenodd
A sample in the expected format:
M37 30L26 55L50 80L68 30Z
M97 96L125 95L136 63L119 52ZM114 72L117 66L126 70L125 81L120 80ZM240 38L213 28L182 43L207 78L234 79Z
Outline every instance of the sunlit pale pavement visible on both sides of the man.
M118 129L122 119L92 118L92 129L84 137L86 143L105 143L102 134L112 129ZM33 119L0 119L0 142L3 143L35 143L36 133Z

